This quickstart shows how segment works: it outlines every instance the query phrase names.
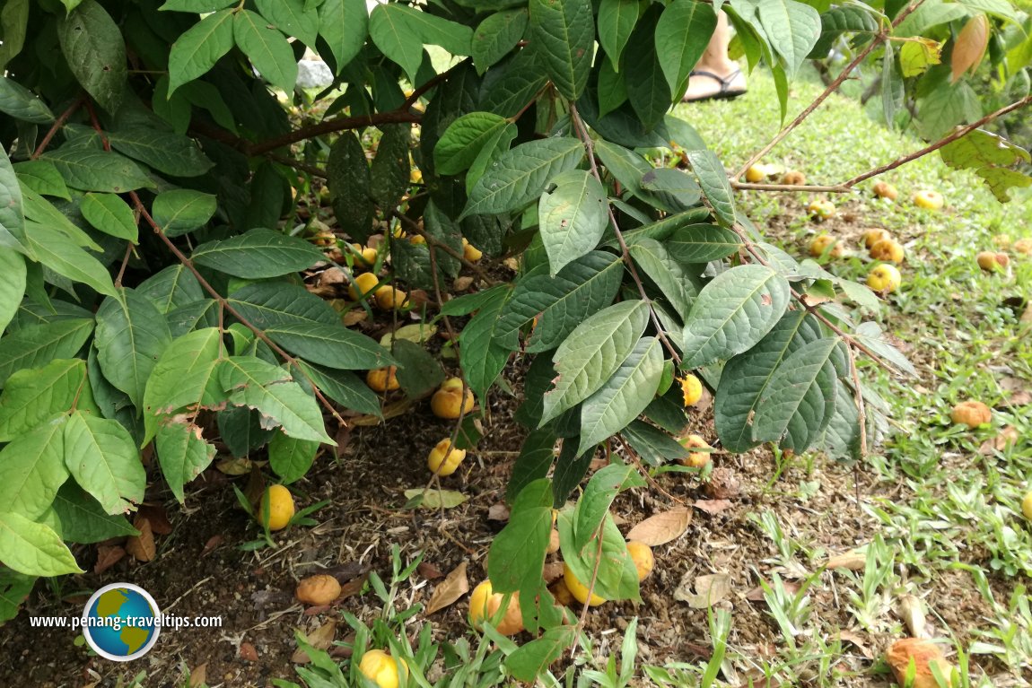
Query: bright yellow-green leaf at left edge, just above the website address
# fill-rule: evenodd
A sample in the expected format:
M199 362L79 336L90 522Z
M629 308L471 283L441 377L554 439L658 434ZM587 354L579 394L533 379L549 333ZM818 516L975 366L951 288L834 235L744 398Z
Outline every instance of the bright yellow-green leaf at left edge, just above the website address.
M11 512L0 512L0 559L27 576L84 572L53 529Z

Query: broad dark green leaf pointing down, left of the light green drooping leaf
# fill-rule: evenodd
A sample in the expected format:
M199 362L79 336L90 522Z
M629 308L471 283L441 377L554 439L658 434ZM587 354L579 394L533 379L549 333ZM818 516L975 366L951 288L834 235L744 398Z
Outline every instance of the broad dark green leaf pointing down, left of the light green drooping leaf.
M97 309L97 360L104 376L142 407L143 391L158 358L172 340L154 301L119 288Z

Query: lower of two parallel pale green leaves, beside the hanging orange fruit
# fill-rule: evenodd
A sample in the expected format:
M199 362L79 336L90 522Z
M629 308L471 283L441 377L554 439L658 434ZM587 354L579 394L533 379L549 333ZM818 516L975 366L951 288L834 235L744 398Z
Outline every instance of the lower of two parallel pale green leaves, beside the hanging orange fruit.
M584 400L577 453L589 450L638 418L655 396L662 376L663 347L655 337L642 337L602 389Z

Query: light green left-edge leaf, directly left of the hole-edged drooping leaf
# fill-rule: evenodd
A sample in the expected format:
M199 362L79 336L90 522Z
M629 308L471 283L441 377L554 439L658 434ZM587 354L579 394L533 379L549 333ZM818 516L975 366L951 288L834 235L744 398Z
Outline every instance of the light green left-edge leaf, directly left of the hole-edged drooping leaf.
M79 361L86 367L85 361ZM38 519L68 480L65 467L64 416L35 425L10 439L0 451L0 503L30 519Z

